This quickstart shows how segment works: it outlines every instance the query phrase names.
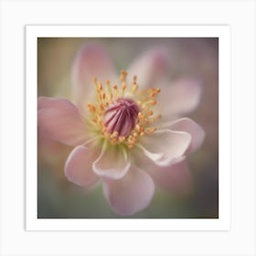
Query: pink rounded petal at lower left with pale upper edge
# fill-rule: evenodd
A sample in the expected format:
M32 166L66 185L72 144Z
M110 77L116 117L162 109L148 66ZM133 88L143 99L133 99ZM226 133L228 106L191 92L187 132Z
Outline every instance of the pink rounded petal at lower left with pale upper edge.
M98 181L92 172L92 162L96 158L95 151L79 145L70 153L66 165L65 176L80 187L91 187Z

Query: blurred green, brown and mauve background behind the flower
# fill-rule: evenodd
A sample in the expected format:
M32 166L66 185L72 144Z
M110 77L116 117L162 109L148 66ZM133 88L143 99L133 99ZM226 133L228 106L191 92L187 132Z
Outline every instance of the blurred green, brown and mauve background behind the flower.
M219 218L219 39L182 38L37 38L37 96L71 100L72 61L86 43L101 43L117 70L125 69L144 50L162 45L171 60L170 80L184 76L203 81L200 104L187 115L206 131L203 146L187 157L190 180L174 177L174 187L156 187L151 205L132 217L147 219ZM44 138L37 146L37 218L125 218L112 212L101 185L84 190L64 176L72 148Z

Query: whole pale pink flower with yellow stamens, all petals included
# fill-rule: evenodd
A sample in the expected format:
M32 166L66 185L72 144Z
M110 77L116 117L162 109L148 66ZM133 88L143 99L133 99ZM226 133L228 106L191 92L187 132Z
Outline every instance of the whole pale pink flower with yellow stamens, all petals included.
M74 102L39 97L38 126L45 136L73 146L65 175L80 187L100 179L112 210L133 215L146 208L155 182L187 172L186 156L205 133L189 118L200 98L197 80L168 81L165 48L135 59L118 80L112 61L97 44L81 48L73 63ZM154 182L155 180L155 182Z

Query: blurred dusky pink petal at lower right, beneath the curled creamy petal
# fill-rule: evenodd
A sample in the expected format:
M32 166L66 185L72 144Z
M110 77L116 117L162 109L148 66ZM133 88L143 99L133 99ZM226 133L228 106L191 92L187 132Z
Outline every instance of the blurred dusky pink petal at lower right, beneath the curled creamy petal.
M155 168L150 172L155 183L178 196L187 196L193 188L193 179L185 161L176 165Z

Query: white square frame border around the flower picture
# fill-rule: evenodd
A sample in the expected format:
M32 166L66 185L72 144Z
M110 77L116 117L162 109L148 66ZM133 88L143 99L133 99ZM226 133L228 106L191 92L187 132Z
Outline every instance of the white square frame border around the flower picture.
M27 230L228 230L228 26L27 26ZM219 37L219 219L37 219L37 37Z

